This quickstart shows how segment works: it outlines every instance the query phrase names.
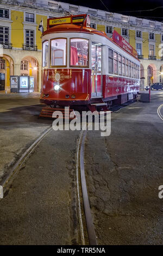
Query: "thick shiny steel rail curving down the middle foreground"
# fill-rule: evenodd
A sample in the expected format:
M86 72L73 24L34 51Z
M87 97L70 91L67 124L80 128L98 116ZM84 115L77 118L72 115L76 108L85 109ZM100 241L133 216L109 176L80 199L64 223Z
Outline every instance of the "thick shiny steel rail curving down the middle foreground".
M84 169L84 142L86 137L86 132L82 132L82 142L80 144L80 178L82 183L82 193L83 193L83 203L84 203L84 212L87 226L87 233L89 236L90 245L97 245L95 228L92 221L91 208L89 203L89 197L86 187L86 178L85 178L85 169Z

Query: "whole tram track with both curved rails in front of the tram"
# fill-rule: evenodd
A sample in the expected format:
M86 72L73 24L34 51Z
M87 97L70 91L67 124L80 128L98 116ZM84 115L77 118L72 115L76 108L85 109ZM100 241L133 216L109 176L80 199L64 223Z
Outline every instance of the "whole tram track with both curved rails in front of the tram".
M12 182L19 170L23 167L24 162L37 148L39 143L42 141L49 132L53 130L49 127L42 135L37 138L32 145L22 154L20 159L10 169L10 172L1 181L3 187L3 194L9 190ZM77 157L76 157L76 177L77 177L77 200L78 200L78 217L80 227L80 239L82 245L87 245L88 240L90 245L97 245L95 229L92 221L89 196L87 193L86 177L84 169L84 149L85 149L85 138L87 131L81 131L77 143Z

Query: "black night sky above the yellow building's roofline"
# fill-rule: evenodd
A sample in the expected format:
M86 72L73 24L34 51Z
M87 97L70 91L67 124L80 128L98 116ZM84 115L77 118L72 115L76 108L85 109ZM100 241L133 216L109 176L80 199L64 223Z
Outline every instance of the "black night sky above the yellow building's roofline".
M82 5L99 10L111 11L112 13L122 13L124 15L144 17L149 20L163 21L162 0L83 0L81 2L79 2L79 0L63 0L61 2ZM157 7L162 8L158 8L152 11L142 11L154 9Z

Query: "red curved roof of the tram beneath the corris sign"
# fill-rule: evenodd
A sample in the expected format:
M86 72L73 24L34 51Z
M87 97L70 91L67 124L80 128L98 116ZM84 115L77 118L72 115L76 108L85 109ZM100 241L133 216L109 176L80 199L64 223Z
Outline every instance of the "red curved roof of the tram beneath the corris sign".
M49 20L48 19L48 24L49 24ZM89 34L97 34L100 36L104 36L106 39L108 39L109 41L111 41L113 44L115 44L116 46L120 47L121 49L123 49L124 52L127 52L130 56L136 58L137 60L139 60L136 56L134 56L133 54L131 54L130 52L128 52L127 50L125 50L125 48L123 48L122 46L120 46L120 44L117 44L116 41L112 40L111 38L109 38L109 36L106 35L105 32L103 31L97 31L95 28L91 28L91 27L84 27L83 25L77 25L77 24L72 24L72 23L68 23L68 24L60 24L60 25L55 25L55 26L48 26L47 30L45 32L43 32L43 35L47 35L47 34L51 34L51 33L59 33L59 32L80 32L80 33L89 33ZM116 32L117 33L117 32ZM117 33L118 34L118 33ZM118 34L119 35L119 34ZM121 35L119 35L121 36ZM122 36L121 36L122 38ZM122 38L124 41L126 41L124 38ZM127 42L127 41L126 41ZM128 43L128 42L127 42ZM129 43L128 43L129 45ZM132 47L132 46L131 46ZM133 47L132 47L133 48ZM133 48L134 49L134 48ZM134 49L134 51L136 52L136 50ZM140 62L140 60L139 60Z

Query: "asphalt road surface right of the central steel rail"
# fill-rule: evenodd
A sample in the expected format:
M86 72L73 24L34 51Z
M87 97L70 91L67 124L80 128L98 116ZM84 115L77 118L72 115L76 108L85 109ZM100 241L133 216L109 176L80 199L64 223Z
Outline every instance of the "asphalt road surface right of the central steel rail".
M163 245L163 121L151 103L112 113L111 135L87 133L87 184L99 245Z

